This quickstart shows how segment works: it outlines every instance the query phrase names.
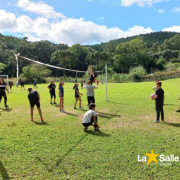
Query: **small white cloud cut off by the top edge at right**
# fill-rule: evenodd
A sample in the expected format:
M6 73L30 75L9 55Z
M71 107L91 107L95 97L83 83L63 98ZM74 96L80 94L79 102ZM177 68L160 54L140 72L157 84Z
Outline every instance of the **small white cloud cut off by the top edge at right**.
M151 6L153 3L158 3L161 1L168 1L168 0L121 0L122 6L132 6L133 4L137 4L138 6L143 7L144 5Z

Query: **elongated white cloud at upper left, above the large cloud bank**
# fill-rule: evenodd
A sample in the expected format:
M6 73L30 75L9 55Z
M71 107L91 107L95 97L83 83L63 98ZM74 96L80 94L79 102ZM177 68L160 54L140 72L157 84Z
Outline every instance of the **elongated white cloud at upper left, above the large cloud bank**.
M63 18L66 19L62 13L57 13L52 6L39 2L32 2L30 0L19 0L17 6L22 8L24 11L35 13L37 15L44 16L46 18Z

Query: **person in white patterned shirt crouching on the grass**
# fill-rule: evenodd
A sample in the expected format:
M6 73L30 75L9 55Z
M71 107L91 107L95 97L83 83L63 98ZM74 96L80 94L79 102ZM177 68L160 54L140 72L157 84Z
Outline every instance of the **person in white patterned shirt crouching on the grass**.
M96 105L91 103L89 105L89 111L87 111L82 119L82 125L84 126L84 132L87 132L89 126L94 126L94 132L100 132L99 125L97 123L97 115L95 112ZM93 124L94 123L94 124Z

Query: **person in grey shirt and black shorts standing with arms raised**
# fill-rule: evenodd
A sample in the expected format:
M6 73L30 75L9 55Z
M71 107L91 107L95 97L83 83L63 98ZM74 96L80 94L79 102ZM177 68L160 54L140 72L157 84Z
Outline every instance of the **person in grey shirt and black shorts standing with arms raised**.
M92 85L92 82L89 80L88 85L84 86L85 89L87 89L87 101L88 105L91 103L95 103L95 98L94 98L94 89L98 89L98 86L95 87Z

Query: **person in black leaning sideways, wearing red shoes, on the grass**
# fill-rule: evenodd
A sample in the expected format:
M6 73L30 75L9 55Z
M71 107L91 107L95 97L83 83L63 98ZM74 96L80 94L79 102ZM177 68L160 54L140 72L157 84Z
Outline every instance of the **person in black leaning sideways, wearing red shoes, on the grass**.
M41 121L43 121L42 111L40 108L40 95L37 91L33 91L32 88L28 88L28 91L29 91L28 99L29 99L29 104L31 108L31 121L33 121L33 111L34 111L35 105L37 106L37 109L39 111Z

